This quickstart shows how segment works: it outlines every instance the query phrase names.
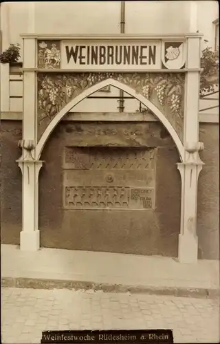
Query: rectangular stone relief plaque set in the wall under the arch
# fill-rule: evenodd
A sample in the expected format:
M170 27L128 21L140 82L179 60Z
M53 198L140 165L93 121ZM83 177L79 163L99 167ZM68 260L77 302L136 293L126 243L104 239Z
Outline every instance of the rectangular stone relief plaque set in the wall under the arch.
M64 207L94 210L153 209L154 151L65 147Z

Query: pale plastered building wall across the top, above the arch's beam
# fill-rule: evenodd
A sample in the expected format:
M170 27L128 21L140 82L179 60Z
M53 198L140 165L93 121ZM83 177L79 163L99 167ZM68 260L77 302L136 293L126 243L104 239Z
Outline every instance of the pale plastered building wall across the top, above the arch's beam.
M197 3L197 27L214 45L218 1ZM125 1L127 34L186 33L190 28L191 1ZM5 16L5 13L8 13ZM1 3L3 40L21 43L21 33L117 34L120 1L47 1ZM3 18L5 20L3 20ZM7 19L7 20L6 20Z

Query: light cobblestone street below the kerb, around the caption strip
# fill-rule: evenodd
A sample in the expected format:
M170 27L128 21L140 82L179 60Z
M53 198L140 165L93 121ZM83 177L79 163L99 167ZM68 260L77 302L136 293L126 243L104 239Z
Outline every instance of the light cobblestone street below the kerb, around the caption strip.
M175 343L218 343L219 301L74 290L1 289L1 343L43 330L173 329Z

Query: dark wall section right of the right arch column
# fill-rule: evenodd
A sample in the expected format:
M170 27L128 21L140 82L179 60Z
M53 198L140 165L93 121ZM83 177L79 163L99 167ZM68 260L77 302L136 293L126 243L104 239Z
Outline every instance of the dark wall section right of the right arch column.
M199 175L197 233L199 257L219 259L219 125L202 123L199 140L204 143Z

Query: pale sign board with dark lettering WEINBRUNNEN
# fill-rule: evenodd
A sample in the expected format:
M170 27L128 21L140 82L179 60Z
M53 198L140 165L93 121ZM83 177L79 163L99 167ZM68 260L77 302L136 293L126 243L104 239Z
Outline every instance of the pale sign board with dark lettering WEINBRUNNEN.
M62 41L62 69L159 69L160 41Z

